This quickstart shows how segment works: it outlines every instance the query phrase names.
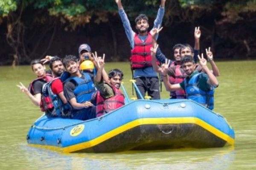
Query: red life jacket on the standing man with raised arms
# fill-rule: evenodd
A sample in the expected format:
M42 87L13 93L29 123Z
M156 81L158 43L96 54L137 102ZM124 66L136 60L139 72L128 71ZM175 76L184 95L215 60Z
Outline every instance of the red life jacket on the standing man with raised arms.
M152 36L148 33L148 37L145 42L143 42L138 34L134 35L134 48L131 49L131 68L146 68L151 67L151 51L152 47ZM160 65L160 62L157 61L157 64Z

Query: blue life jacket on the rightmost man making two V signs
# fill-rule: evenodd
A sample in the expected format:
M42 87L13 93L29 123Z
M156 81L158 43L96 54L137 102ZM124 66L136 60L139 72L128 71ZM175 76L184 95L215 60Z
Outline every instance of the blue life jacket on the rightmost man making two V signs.
M198 102L212 110L214 108L214 87L212 86L209 91L202 91L198 88L197 81L201 74L204 73L195 74L189 82L187 82L187 79L184 80L186 96L187 99Z

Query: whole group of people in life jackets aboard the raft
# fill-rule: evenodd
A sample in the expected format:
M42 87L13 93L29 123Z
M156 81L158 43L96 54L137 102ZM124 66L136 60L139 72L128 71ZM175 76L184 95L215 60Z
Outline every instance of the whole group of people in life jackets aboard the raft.
M212 70L207 67L203 54L198 55L200 28L195 28L194 49L189 44L175 45L175 61L172 61L165 57L157 44L166 0L161 0L151 31L148 31L148 17L145 14L135 19L137 33L131 28L121 0L115 1L131 45L130 61L132 77L138 88L137 99L146 93L151 99L160 99L157 76L160 73L166 91L171 91L170 99L192 99L212 110L219 71L210 48L206 49L206 53ZM199 65L196 64L198 60ZM46 71L46 62L49 62L49 71ZM125 96L119 90L122 71L115 68L107 74L104 69L105 54L98 57L96 52L91 52L88 44L79 46L79 59L73 55L67 55L64 59L47 56L42 60L33 60L31 66L37 78L29 88L21 82L17 86L49 118L93 119L125 105Z

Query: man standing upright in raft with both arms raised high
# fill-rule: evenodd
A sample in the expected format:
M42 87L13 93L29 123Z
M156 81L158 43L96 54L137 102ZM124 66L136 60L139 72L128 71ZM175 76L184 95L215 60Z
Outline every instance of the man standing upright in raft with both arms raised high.
M157 18L154 20L154 28L162 24L165 1L161 0ZM151 99L160 99L159 79L151 62L150 48L152 47L152 36L151 31L148 32L148 17L145 14L140 14L135 19L136 29L138 31L138 34L136 34L131 28L121 0L116 0L116 4L126 36L131 45L130 61L131 69L135 70L133 78L136 80L136 85L142 96L145 96L145 93L148 92L148 96L151 96ZM138 93L137 98L140 99Z

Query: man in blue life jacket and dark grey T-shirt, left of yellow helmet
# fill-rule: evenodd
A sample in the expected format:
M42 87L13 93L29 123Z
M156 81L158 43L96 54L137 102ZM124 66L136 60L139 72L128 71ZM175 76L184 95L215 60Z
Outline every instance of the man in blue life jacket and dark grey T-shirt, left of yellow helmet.
M71 105L71 119L88 120L96 117L96 108L90 102L95 86L86 73L79 70L76 56L67 55L63 59L67 72L61 75L64 84L64 96Z

